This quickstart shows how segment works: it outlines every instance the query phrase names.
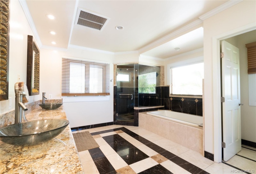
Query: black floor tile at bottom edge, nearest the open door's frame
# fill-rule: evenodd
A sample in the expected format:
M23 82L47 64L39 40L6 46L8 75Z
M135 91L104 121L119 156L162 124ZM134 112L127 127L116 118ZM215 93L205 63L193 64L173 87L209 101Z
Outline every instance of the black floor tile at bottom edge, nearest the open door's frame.
M203 171L203 169L200 169L199 167L196 167L195 165L187 162L186 160L176 156L174 158L169 159L173 163L177 164L178 166L182 167L186 171L192 173L192 174L197 174Z

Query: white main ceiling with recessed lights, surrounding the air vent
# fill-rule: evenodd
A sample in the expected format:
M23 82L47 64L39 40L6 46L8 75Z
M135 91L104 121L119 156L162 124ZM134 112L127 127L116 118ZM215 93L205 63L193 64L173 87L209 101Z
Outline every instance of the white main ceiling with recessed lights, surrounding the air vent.
M74 0L26 0L26 2L43 45L67 48L71 44L110 52L124 52L139 50L197 20L199 16L227 1L84 0L78 1L77 7ZM77 8L109 17L110 20L102 31L74 25L70 38L72 20ZM47 14L52 14L56 19L49 20ZM115 30L117 25L124 26L124 30ZM57 34L51 35L49 31L55 31ZM201 35L198 40L200 39ZM52 45L52 41L57 44ZM187 46L191 45L184 43L178 47L182 47L181 51L183 51ZM170 55L170 53L162 53L156 57L166 58Z

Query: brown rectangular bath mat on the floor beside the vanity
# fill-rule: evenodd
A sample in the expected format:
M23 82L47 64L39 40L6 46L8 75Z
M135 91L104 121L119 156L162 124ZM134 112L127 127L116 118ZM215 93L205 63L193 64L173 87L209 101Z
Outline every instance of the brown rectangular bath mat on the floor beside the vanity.
M100 147L88 131L75 133L73 137L78 152Z

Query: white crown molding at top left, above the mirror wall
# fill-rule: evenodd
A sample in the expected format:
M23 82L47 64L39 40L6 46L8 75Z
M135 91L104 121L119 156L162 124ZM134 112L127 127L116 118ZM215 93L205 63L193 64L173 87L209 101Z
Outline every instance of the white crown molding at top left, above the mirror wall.
M39 35L38 35L38 32L37 32L37 30L36 30L34 21L33 21L33 19L32 19L32 16L31 16L31 14L30 14L30 11L29 11L29 7L28 7L28 5L27 5L27 2L26 2L25 0L19 0L19 2L20 2L20 5L21 5L21 7L22 7L24 13L25 13L25 16L27 17L27 20L28 20L28 22L29 22L29 25L30 25L30 27L31 27L31 29L32 29L32 31L33 31L33 34L34 34L35 40L36 40L36 42L37 42L37 44L38 44L38 47L41 48L43 44L42 44L41 39L40 39L40 37L39 37Z

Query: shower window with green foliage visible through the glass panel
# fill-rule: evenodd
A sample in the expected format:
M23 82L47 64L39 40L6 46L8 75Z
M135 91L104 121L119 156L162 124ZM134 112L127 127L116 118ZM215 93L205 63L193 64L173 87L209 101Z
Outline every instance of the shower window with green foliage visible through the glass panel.
M139 75L139 94L155 94L156 72Z

